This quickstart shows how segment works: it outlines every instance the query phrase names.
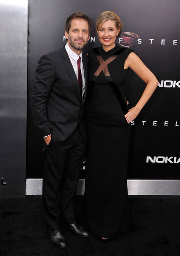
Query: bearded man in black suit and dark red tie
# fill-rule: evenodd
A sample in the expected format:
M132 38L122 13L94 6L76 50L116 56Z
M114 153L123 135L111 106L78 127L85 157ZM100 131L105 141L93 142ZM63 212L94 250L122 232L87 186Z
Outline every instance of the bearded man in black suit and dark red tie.
M67 44L40 58L32 90L34 123L46 152L43 208L47 234L59 248L67 247L60 225L79 237L89 236L76 223L73 200L87 140L84 102L88 62L82 49L88 43L90 29L90 20L82 12L67 18Z

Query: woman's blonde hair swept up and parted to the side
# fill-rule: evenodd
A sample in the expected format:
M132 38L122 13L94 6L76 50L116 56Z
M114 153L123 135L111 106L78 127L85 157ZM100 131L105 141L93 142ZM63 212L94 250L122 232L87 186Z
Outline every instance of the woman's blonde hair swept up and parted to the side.
M101 28L102 24L107 20L114 21L116 28L117 29L120 28L120 31L117 35L119 37L121 34L122 22L121 22L121 19L119 18L119 16L115 12L106 11L106 12L101 13L96 21L96 26L95 26L96 30L98 31Z

